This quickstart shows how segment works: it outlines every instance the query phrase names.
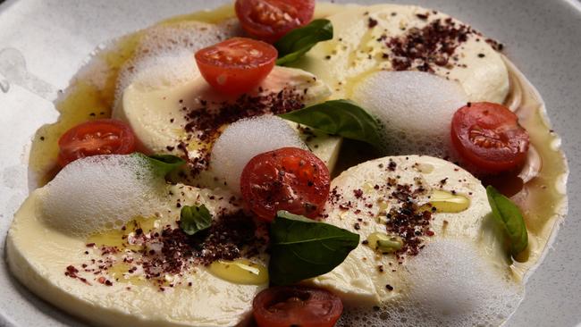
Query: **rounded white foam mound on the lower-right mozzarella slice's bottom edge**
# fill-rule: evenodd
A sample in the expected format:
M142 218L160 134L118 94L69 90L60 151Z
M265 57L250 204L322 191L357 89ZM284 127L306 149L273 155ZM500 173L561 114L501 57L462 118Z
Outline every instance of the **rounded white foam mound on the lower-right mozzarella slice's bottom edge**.
M508 269L503 274L473 243L435 241L417 260L410 260L408 269L413 276L411 301L425 314L442 316L443 324L465 324L474 314L496 320L498 315L508 316L508 307L519 302L520 292L509 281ZM472 322L468 324L478 323Z

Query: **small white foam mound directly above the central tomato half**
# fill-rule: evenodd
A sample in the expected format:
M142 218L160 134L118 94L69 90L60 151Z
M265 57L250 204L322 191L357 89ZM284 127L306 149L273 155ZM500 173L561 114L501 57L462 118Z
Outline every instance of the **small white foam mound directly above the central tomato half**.
M240 192L240 174L254 156L281 147L307 149L296 130L273 115L242 119L223 131L212 148L210 169Z

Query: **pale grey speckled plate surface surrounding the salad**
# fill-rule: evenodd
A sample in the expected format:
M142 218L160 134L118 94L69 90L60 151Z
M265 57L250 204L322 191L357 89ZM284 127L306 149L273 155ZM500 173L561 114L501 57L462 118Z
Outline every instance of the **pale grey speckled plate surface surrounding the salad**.
M29 193L34 132L57 113L52 101L95 46L165 17L228 1L0 0L0 252ZM337 1L374 4L385 1ZM507 45L505 53L543 96L568 157L568 215L528 279L507 326L581 325L581 3L578 0L397 1L434 8ZM0 326L82 326L24 289L0 261Z

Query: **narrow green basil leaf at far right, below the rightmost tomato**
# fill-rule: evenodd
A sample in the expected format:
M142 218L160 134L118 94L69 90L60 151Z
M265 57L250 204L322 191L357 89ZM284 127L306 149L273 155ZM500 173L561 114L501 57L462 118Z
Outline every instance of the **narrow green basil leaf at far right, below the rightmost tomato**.
M501 222L504 230L509 235L512 256L517 256L528 245L525 220L520 213L520 209L508 197L503 196L498 190L494 189L493 186L486 188L486 195L488 196L488 203L493 208L494 218L496 221Z

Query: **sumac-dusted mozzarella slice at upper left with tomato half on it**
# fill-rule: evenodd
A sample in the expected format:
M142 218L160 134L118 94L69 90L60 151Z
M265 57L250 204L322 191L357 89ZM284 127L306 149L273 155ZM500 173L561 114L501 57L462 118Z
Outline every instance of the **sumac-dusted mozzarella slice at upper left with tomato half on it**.
M207 32L216 33L215 28ZM221 185L207 171L208 159L215 138L228 123L298 109L324 101L331 93L322 80L307 71L276 66L247 95L225 96L201 76L191 46L173 48L169 54L164 47L149 51L126 71L119 82L123 89L117 96L114 117L128 122L148 151L187 157L191 170L185 181L203 187ZM325 163L334 164L341 138L324 134L314 138L304 129L298 133Z

